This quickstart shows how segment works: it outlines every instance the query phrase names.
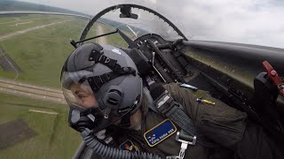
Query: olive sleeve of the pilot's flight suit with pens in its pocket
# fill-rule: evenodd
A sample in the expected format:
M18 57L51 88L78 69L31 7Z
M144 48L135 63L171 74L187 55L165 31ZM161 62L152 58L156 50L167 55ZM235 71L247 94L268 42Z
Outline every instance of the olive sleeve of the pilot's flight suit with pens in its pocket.
M224 146L235 148L242 139L247 125L247 114L236 110L209 95L196 92L172 83L164 86L172 97L185 107L201 133ZM194 94L194 95L193 95ZM196 102L197 98L215 102L215 105Z

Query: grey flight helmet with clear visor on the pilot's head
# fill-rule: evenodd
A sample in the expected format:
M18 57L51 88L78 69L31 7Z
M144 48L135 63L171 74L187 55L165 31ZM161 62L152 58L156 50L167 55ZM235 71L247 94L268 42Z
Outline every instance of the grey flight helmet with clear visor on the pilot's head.
M114 46L85 43L78 47L67 57L60 80L71 110L88 112L97 124L104 123L101 128L113 124L114 118L130 117L141 105L142 79L136 64ZM93 95L97 102L78 102L78 90Z

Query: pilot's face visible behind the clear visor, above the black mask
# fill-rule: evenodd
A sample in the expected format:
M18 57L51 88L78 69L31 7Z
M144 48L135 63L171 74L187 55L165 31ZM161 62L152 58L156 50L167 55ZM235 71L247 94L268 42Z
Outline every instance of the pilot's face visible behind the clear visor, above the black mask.
M70 89L75 96L75 102L83 106L83 108L91 108L99 105L95 95L90 90L90 87L72 84Z

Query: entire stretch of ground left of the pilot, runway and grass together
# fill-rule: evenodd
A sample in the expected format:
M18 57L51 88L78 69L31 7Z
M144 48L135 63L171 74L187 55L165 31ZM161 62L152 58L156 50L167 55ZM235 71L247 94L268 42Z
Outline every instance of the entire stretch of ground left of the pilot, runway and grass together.
M86 20L0 17L0 158L71 158L81 143L68 126L59 73ZM15 153L17 152L17 153Z

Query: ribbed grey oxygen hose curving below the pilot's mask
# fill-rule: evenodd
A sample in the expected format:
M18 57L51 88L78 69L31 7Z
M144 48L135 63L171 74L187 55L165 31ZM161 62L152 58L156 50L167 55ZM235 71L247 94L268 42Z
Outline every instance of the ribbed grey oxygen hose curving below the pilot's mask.
M92 131L86 128L83 133L81 133L83 140L86 145L93 150L94 153L106 157L106 158L117 158L117 159L162 159L159 155L154 155L145 152L130 152L121 150L118 148L107 147L106 145L96 140Z

